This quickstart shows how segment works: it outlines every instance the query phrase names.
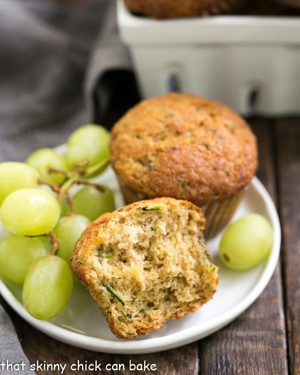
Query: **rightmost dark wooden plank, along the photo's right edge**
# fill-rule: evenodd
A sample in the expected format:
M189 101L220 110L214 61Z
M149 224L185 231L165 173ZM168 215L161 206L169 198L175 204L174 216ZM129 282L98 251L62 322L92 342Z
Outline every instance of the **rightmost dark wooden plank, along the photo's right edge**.
M287 355L291 374L300 374L300 126L298 118L276 121L279 213Z

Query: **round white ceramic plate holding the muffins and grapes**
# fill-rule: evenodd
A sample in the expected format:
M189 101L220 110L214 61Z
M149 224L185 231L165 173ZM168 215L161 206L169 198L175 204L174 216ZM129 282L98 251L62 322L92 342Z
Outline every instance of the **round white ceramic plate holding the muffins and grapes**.
M109 168L99 179L115 193L116 205L123 204L117 181ZM234 217L258 212L268 218L274 229L274 241L267 259L248 271L232 271L217 256L220 235L208 241L215 264L220 266L219 284L213 299L180 320L170 320L147 336L125 340L116 338L104 317L80 286L74 288L66 308L49 321L30 316L21 304L21 290L0 279L0 293L6 302L29 324L60 341L101 352L147 353L177 347L220 329L243 312L262 292L277 263L280 249L280 225L274 204L261 182L254 177ZM0 230L1 235L1 230Z

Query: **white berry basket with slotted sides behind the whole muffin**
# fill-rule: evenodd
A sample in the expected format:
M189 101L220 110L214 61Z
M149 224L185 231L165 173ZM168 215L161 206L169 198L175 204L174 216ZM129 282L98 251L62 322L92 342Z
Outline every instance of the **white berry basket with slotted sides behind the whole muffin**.
M219 15L156 20L117 0L117 24L142 97L218 99L244 115L300 112L300 18Z

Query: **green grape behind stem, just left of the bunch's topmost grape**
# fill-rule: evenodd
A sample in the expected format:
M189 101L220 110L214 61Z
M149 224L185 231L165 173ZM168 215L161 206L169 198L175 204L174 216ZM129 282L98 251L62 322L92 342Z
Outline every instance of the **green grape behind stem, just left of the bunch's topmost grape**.
M38 170L44 181L57 184L64 179L64 174L58 172L49 172L49 168L67 170L65 158L56 152L53 148L39 148L30 153L26 163Z

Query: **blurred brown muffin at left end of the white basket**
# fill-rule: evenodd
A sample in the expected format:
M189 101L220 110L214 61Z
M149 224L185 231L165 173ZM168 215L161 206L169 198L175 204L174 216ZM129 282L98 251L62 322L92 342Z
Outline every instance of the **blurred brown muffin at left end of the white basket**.
M127 8L157 19L228 14L242 8L247 0L124 0Z

